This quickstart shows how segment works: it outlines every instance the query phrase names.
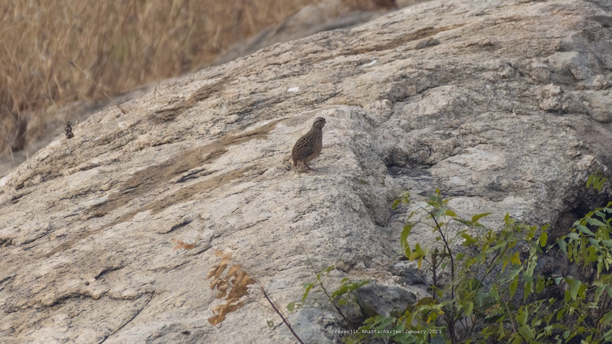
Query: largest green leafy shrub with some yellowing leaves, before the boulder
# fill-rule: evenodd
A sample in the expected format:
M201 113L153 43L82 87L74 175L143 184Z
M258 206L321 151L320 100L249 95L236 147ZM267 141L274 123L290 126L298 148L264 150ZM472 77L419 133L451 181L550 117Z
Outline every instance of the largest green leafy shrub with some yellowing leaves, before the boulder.
M346 342L371 337L400 343L564 343L576 336L589 343L612 340L612 278L602 274L612 263L612 203L586 214L546 248L583 270L595 264L592 282L585 282L535 274L548 226L525 225L506 214L502 228L493 230L480 223L489 213L465 219L448 201L436 190L425 203L411 201L408 193L394 202L393 208L400 203L417 208L401 231L401 249L431 274L431 296L408 305L402 314L368 318ZM409 234L416 226L429 227L438 244L412 244ZM555 286L565 289L562 297L547 296Z

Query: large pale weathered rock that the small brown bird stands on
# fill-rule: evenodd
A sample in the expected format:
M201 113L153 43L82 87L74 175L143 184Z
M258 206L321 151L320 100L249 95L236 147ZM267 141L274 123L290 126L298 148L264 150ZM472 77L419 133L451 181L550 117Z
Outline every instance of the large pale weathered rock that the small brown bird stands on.
M208 323L215 250L282 306L314 279L308 258L338 267L330 282L392 286L403 189L490 225L571 221L612 165L611 25L605 1L437 0L94 114L0 179L0 341L294 343L257 302ZM318 116L317 171L297 173ZM291 319L315 342L342 329Z

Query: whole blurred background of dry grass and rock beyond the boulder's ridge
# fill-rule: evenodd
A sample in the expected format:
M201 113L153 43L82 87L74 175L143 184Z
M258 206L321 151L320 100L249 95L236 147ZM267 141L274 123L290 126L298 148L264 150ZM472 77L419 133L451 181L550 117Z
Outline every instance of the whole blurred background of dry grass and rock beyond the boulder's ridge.
M1 1L0 165L139 86L421 1Z

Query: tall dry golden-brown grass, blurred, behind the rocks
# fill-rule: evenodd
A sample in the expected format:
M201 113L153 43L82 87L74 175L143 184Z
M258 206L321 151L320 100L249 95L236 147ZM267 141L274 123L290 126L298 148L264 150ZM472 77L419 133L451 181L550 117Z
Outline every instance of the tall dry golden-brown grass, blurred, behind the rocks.
M49 97L61 107L180 75L318 1L2 1L0 154L40 134Z

